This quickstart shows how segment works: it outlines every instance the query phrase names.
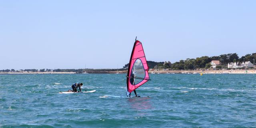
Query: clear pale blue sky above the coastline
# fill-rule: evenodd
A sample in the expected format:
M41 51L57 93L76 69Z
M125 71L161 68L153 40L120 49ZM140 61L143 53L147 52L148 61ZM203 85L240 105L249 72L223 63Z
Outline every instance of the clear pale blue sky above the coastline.
M119 68L256 52L255 0L0 0L0 69Z

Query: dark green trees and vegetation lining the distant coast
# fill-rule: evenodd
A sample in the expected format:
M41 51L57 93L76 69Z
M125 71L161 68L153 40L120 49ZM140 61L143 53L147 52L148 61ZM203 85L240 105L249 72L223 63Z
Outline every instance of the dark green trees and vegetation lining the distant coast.
M227 65L229 62L245 62L250 61L253 62L255 65L256 60L256 53L246 54L245 56L241 56L239 58L238 54L230 53L230 54L221 54L219 56L202 56L198 58L187 58L186 60L180 60L179 62L154 62L154 61L147 61L148 66L150 69L168 69L168 70L196 70L202 68L210 68L210 62L212 60L219 60L222 65L216 66L216 68L223 68L223 66ZM119 69L25 69L25 70L14 70L14 69L6 69L0 70L0 72L88 72L88 73L108 73L114 71L124 71L127 70L129 66L125 64L123 68Z

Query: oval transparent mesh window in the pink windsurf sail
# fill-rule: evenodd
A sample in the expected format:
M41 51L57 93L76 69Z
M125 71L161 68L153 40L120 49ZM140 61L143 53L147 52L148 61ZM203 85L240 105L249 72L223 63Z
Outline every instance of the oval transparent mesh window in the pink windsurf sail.
M145 78L145 70L140 59L137 59L132 66L132 72L130 76L130 83L136 85Z

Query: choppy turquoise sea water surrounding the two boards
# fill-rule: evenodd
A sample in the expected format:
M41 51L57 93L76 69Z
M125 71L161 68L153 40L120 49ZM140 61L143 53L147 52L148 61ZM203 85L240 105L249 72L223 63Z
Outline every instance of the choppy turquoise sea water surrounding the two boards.
M0 127L234 128L256 126L254 74L150 74L126 96L126 74L1 74ZM58 94L83 82L94 93ZM132 93L134 96L134 93Z

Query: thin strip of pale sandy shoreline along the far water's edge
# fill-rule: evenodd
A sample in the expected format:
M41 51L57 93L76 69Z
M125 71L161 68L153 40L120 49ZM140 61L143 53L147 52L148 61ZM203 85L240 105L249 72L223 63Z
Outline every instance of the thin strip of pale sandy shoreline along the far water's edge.
M97 71L89 74L126 74L124 71ZM159 70L148 71L149 74L256 74L256 70ZM0 72L0 74L76 74L76 72Z

